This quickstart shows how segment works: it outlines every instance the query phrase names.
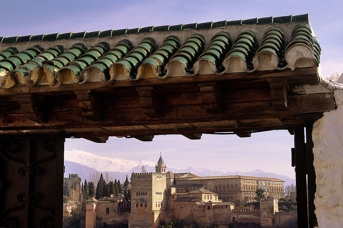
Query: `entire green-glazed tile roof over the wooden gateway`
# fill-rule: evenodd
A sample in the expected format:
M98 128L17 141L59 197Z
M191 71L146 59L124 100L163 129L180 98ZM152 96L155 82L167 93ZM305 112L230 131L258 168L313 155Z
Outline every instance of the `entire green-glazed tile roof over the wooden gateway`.
M0 37L4 88L318 67L308 14Z

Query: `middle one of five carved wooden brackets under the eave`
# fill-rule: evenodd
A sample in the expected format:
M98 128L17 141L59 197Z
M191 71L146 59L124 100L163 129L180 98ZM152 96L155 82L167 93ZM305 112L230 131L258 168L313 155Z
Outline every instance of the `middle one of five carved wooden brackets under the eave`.
M155 86L136 87L139 96L139 105L144 115L150 118L162 116L163 94Z

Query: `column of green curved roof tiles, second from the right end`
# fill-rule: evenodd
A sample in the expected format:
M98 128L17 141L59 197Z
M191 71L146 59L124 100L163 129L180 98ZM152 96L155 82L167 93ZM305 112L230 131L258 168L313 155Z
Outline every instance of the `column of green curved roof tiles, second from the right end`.
M275 70L284 57L285 36L277 26L271 26L264 33L261 44L252 60L254 70Z

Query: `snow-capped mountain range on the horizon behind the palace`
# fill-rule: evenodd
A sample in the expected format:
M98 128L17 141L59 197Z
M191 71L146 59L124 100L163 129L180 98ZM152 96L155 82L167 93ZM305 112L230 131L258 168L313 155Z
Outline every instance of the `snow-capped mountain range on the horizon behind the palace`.
M64 152L64 166L66 167L64 177L68 177L69 173L77 173L79 177L84 181L84 179L89 180L89 175L92 172L98 171L100 173L109 173L109 176L113 179L119 179L121 182L125 181L126 175L130 179L132 172L141 172L142 166L146 168L147 172L155 171L155 164L152 161L135 161L126 160L121 158L108 158L98 155L94 155L84 151L65 151ZM272 172L263 172L262 170L256 169L252 172L222 172L215 171L206 168L193 168L188 167L186 169L178 169L173 167L167 167L167 171L174 173L187 173L191 172L200 177L211 177L211 176L232 176L232 175L242 175L242 176L253 176L253 177L270 177L277 178L285 181L285 185L294 184L295 179L291 179L284 175L278 175Z

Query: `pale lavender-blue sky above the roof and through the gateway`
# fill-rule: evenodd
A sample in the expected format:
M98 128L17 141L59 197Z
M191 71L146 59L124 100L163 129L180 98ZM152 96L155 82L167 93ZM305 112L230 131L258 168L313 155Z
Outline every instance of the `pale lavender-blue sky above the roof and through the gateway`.
M145 26L240 20L309 13L321 46L322 75L343 72L343 1L13 1L0 0L0 36L39 35ZM111 137L106 144L67 139L65 149L100 156L157 161L161 151L167 165L204 167L220 171L261 169L295 177L291 167L293 136L287 131L236 135L203 135L188 140L180 135L155 136L153 142Z

